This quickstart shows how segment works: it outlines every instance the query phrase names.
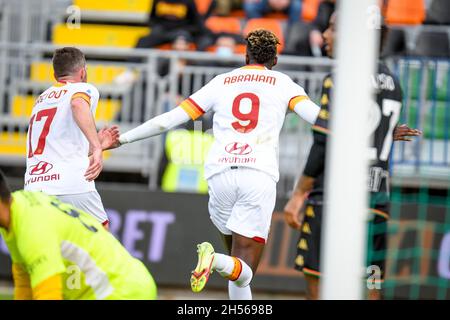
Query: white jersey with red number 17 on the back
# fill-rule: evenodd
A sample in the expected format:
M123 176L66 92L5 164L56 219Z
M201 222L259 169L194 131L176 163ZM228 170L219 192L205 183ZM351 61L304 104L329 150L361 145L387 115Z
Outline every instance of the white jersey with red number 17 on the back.
M98 90L88 83L60 83L44 91L33 107L27 134L25 190L50 195L95 191L84 178L89 142L72 116L75 98L89 103L95 115Z

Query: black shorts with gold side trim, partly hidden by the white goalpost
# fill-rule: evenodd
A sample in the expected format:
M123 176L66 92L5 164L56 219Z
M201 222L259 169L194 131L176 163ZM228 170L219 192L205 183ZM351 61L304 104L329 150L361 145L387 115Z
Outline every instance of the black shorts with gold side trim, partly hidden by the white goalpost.
M322 203L308 201L302 222L300 239L297 244L295 269L308 276L320 277L320 245L322 236ZM386 249L388 204L376 205L371 209L368 225L367 266L375 266L384 279ZM374 270L373 267L371 270ZM371 274L368 273L367 276Z

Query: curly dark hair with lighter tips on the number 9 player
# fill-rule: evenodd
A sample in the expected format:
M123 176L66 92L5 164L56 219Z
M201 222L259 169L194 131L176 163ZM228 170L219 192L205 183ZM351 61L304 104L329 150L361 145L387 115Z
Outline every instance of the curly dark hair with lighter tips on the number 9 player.
M260 64L273 63L277 56L277 36L264 29L251 31L247 37L247 54L249 58Z

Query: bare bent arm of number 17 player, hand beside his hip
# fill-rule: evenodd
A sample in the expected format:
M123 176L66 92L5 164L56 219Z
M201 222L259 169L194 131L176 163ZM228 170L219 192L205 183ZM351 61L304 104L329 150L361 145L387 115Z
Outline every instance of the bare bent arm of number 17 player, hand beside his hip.
M103 169L102 146L97 135L95 120L91 113L89 103L82 98L72 100L72 114L78 127L81 129L86 139L89 141L92 159L84 177L92 181L98 177Z

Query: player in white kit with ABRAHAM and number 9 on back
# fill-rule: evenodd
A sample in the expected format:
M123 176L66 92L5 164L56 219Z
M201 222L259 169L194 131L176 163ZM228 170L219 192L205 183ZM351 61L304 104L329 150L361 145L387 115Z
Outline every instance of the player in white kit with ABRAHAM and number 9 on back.
M223 235L228 255L212 245L198 245L198 264L191 276L201 291L217 271L229 280L230 299L251 299L250 282L269 234L275 206L278 140L288 110L314 123L320 108L287 75L272 71L277 37L267 30L246 37L246 66L211 80L175 109L119 138L125 144L155 136L208 110L215 112L215 141L205 163L209 212Z

